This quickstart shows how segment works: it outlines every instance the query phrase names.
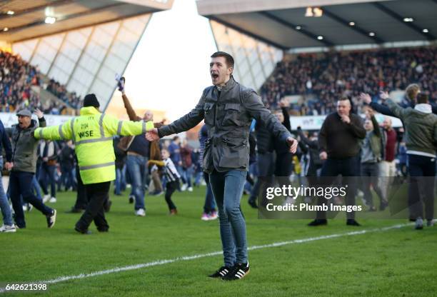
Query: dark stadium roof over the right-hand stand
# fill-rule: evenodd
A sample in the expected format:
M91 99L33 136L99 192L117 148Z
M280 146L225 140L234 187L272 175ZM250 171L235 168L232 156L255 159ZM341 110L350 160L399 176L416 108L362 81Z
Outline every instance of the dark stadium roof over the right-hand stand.
M437 36L437 0L198 0L197 8L202 16L280 49ZM317 9L322 16L314 16Z

